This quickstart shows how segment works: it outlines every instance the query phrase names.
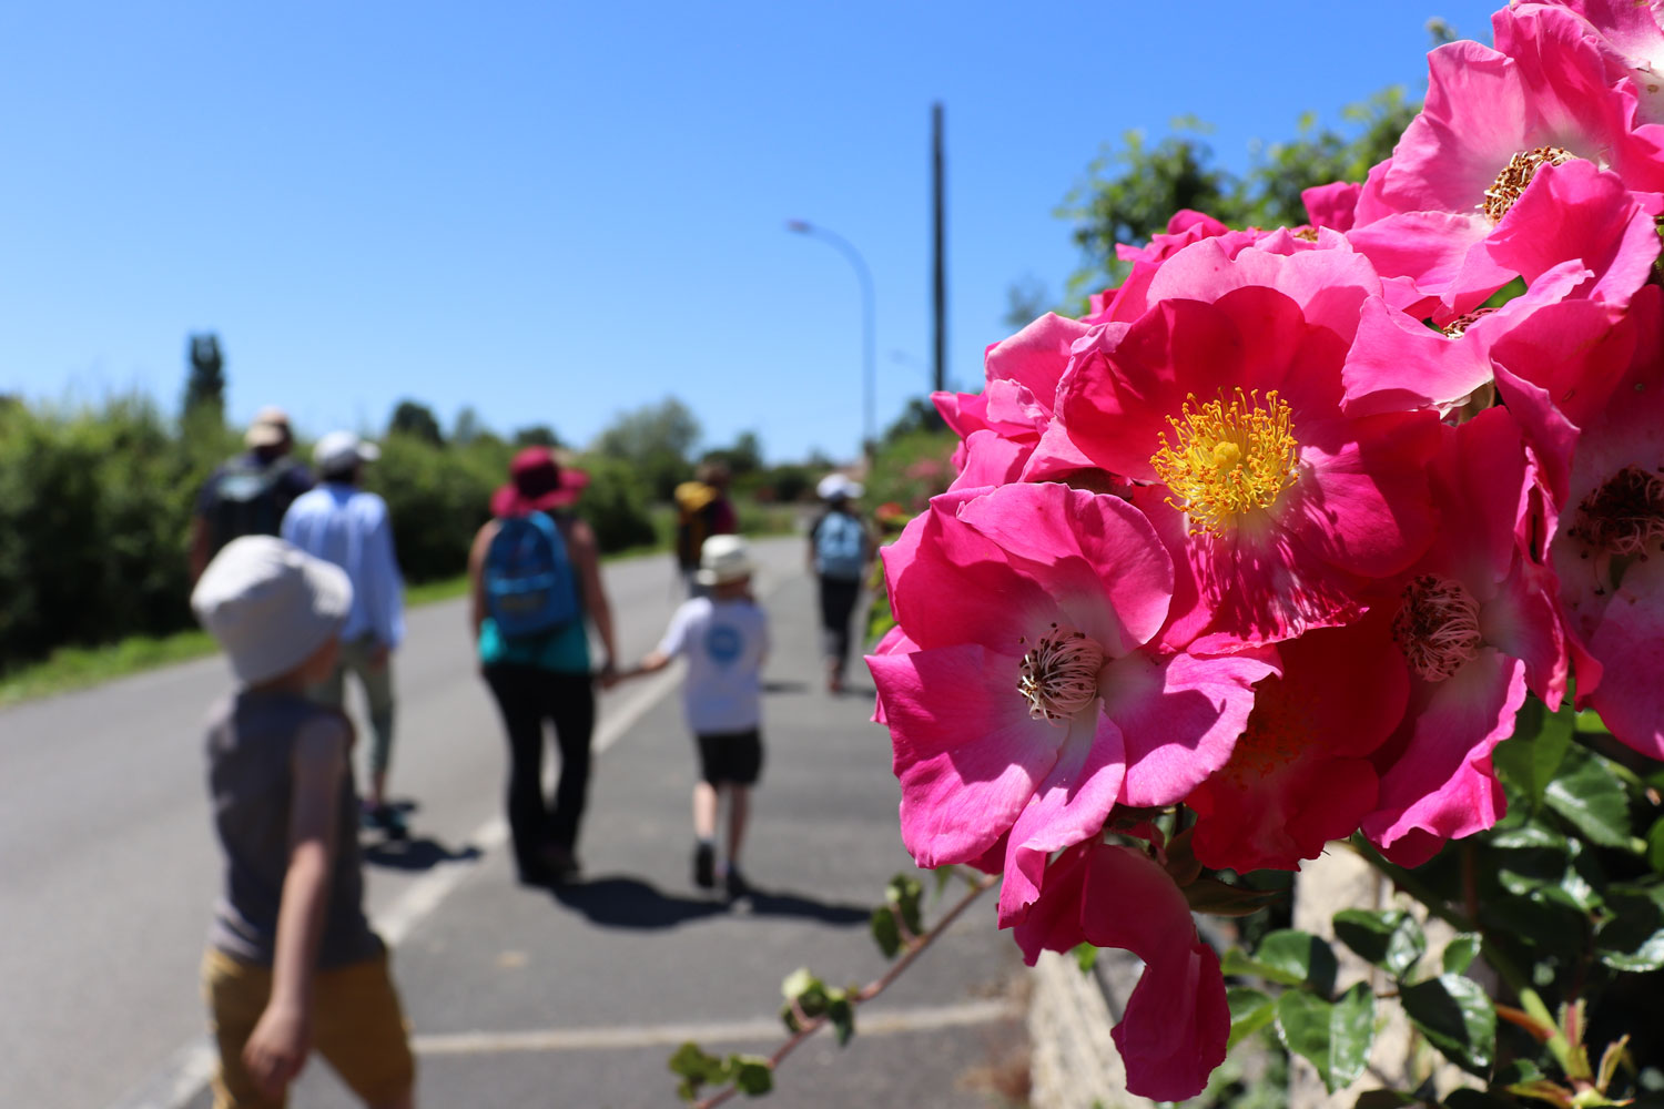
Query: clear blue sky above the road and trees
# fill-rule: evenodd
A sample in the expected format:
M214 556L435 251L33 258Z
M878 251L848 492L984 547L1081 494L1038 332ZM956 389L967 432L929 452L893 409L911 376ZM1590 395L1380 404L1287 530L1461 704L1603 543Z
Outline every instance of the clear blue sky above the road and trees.
M1498 3L5 5L0 391L173 411L213 329L240 422L409 396L582 444L676 394L706 446L849 456L855 276L784 221L870 263L882 427L929 389L934 100L975 387L1007 286L1073 268L1052 211L1105 140L1193 113L1243 168L1419 95L1426 18L1489 42Z

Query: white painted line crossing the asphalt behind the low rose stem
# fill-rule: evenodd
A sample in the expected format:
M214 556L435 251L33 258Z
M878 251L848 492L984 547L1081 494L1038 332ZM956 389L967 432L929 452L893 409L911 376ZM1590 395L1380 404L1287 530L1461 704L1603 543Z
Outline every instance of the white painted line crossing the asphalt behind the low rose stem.
M965 1004L899 1009L862 1014L855 1028L860 1036L894 1036L897 1033L932 1033L943 1028L992 1024L1020 1019L1022 1009L1010 1001L968 1001ZM531 1051L596 1051L624 1047L697 1044L769 1042L785 1036L780 1021L727 1021L712 1024L626 1024L621 1028L547 1028L527 1033L448 1033L418 1036L413 1041L421 1056L483 1056Z

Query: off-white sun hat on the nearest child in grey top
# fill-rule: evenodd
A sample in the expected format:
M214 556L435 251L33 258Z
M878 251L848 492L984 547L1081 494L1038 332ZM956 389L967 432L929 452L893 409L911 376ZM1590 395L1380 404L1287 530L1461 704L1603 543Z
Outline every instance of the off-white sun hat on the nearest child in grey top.
M191 610L220 642L240 685L306 662L353 607L346 570L273 535L233 539L191 590Z

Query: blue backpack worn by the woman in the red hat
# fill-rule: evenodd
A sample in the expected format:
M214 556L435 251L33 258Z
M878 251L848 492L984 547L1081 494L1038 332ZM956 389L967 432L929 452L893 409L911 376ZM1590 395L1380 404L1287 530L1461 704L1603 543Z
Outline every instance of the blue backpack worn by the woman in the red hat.
M542 512L503 520L486 549L486 612L508 638L554 632L577 615L566 540Z

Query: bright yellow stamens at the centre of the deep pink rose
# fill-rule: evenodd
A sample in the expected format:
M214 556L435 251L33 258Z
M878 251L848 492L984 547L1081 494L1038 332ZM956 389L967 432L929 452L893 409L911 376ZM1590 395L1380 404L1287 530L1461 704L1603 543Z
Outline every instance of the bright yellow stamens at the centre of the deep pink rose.
M1258 391L1238 389L1228 404L1223 396L1196 404L1190 394L1180 417L1166 422L1176 442L1163 434L1150 466L1173 494L1166 502L1190 514L1191 535L1223 535L1243 512L1276 504L1295 481L1300 444L1275 389L1263 406Z

